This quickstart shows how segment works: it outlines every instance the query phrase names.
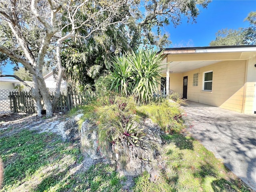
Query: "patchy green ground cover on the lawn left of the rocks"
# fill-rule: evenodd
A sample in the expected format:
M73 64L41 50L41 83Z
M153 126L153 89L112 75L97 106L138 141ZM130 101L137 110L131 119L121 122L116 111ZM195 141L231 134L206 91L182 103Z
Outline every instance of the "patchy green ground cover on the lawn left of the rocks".
M10 130L10 129L9 129ZM6 130L6 131L9 131ZM0 191L120 191L121 178L109 165L83 169L78 142L56 134L22 130L0 139L4 183Z

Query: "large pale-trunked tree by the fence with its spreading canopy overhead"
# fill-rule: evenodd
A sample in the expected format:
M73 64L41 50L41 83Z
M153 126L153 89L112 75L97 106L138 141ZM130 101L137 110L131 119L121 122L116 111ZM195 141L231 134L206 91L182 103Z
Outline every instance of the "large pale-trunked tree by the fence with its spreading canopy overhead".
M52 104L60 96L63 59L69 62L69 71L74 71L76 65L82 62L80 65L92 75L94 72L90 72L90 65L94 68L95 64L104 67L109 58L107 54L101 54L102 51L95 57L97 48L106 53L120 54L126 49L136 49L141 44L162 46L168 42L167 36L161 32L162 26L170 23L177 26L182 16L194 22L199 14L198 6L205 8L209 2L210 0L0 1L0 52L4 54L1 62L8 59L22 64L30 71L33 76L32 96L38 116L42 110L39 90L46 115L52 116ZM157 34L154 34L154 30ZM84 46L76 46L77 42L85 43L85 52ZM88 62L92 60L97 62ZM43 66L49 63L57 73L56 93L52 101L42 74ZM77 72L80 74L79 70Z

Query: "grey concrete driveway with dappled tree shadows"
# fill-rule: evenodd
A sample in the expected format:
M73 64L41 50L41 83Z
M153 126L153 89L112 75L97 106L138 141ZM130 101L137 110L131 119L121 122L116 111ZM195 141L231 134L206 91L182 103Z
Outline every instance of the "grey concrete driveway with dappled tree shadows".
M256 191L256 114L188 101L188 132Z

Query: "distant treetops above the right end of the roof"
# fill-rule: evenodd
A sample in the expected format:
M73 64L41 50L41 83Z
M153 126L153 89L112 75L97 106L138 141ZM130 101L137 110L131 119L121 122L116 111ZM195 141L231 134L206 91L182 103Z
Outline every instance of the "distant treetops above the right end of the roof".
M256 12L250 12L244 20L250 23L249 27L219 30L210 46L256 44Z

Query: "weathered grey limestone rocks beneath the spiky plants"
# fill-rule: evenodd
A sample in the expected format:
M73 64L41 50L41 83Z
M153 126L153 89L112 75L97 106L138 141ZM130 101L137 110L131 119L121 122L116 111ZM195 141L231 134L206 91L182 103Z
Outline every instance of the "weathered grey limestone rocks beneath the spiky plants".
M133 128L138 126L144 132L144 138L139 146L132 146L126 139L117 142L109 142L109 152L103 151L98 145L98 126L89 120L82 123L81 149L85 155L93 160L106 158L116 166L116 171L121 175L138 176L144 171L152 174L152 180L156 180L160 174L162 157L160 148L160 127L153 123L150 118L141 122L134 122ZM125 138L120 134L120 138Z

